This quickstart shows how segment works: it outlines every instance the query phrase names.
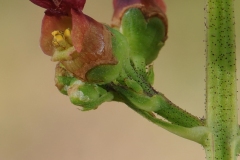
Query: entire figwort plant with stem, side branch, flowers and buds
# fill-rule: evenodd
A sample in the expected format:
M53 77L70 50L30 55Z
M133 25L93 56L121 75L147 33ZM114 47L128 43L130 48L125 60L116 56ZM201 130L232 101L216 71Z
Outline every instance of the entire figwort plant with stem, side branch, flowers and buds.
M106 101L122 102L160 127L201 144L209 160L236 158L240 152L236 109L225 114L223 107L234 108L236 101L233 0L207 0L206 119L179 108L152 87L152 63L168 38L163 0L113 0L111 25L85 15L85 0L30 1L46 9L40 46L58 62L56 87L73 104L86 111ZM233 45L223 48L224 43ZM218 54L228 61L216 60ZM214 79L221 81L219 88L226 88L213 87ZM231 92L231 97L218 96L223 91Z

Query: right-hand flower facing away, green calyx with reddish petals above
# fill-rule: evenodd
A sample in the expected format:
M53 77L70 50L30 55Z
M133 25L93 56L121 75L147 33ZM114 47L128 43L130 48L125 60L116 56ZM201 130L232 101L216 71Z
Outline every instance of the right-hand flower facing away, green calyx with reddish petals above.
M167 39L166 8L162 3L162 0L114 1L112 25L119 27L127 38L134 63L144 59L144 66L150 64Z

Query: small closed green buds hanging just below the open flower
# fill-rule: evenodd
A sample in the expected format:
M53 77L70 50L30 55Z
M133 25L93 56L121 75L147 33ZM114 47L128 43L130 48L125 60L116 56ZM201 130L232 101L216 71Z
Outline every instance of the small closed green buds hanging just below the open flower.
M84 111L96 109L103 102L113 99L113 94L102 87L73 77L61 63L56 66L55 83L61 93L68 95L71 102L82 106Z

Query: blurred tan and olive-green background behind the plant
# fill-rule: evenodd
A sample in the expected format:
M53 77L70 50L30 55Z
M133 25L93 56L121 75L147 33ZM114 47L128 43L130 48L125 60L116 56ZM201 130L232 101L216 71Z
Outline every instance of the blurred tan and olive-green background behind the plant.
M154 62L154 86L202 117L205 0L166 4L169 38ZM38 44L43 12L27 0L0 0L0 160L204 159L200 145L155 126L124 104L104 103L89 112L72 105L54 86L55 63ZM87 0L84 13L109 23L112 2ZM240 10L236 24L240 45Z

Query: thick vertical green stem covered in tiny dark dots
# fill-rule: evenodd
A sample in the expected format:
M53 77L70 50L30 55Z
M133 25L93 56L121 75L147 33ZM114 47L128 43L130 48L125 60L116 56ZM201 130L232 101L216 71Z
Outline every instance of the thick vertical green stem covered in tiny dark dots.
M207 0L207 159L236 160L237 87L234 0Z

